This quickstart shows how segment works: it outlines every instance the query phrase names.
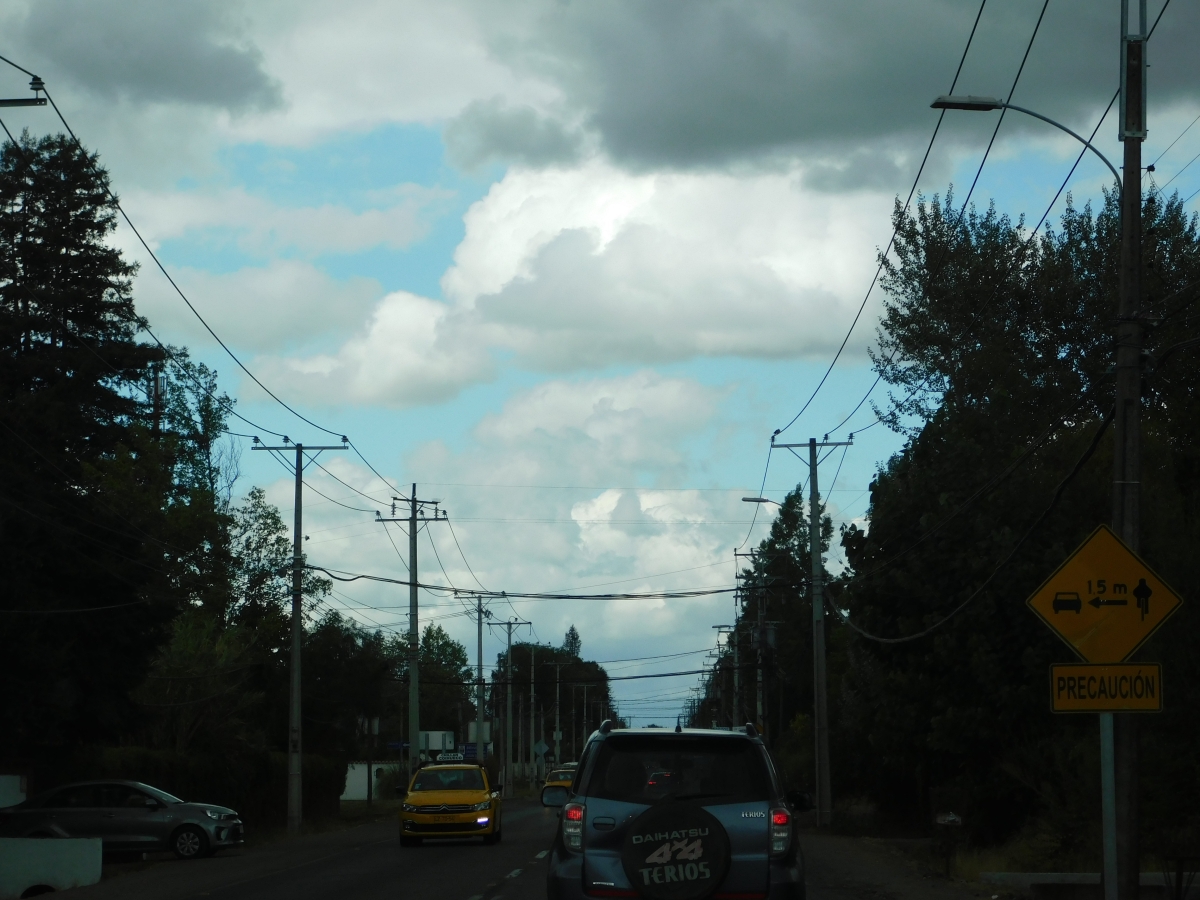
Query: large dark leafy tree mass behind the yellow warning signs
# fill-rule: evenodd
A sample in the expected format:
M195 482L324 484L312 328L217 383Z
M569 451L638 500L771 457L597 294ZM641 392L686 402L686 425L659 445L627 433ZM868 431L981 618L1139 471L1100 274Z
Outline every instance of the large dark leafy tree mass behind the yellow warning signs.
M1160 324L1141 550L1189 584L1200 575L1200 371L1184 342L1196 337L1188 286L1200 239L1177 197L1147 196L1144 222L1146 305ZM1032 240L990 208L959 221L949 197L912 215L898 206L895 224L876 367L916 425L886 415L908 440L871 485L870 527L842 534L852 572L836 605L872 635L934 630L886 644L830 620L846 648L832 673L842 679L835 790L912 822L954 809L980 840L1033 829L1039 864L1082 859L1097 846L1094 724L1049 714L1046 666L1067 656L1021 600L1110 514L1111 436L1097 439L1112 403L1116 197L1096 214L1068 205L1058 230ZM1183 637L1193 616L1152 647L1180 673L1178 712L1145 726L1156 763L1144 767L1144 815L1175 828L1194 816L1180 798L1200 788L1171 763L1200 737L1183 713L1200 701Z

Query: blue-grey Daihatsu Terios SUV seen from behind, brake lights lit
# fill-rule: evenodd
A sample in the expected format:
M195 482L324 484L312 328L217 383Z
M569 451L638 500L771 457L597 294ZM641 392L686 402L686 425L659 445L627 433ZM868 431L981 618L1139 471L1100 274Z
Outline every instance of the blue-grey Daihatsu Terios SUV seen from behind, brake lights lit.
M752 725L738 731L614 730L589 739L560 806L550 900L803 900L796 809Z

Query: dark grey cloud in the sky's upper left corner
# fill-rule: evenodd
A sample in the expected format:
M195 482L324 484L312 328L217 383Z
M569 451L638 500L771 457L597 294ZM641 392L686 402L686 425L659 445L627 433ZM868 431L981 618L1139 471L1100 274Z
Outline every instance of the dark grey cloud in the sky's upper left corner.
M40 0L16 31L44 64L41 74L101 96L234 112L282 102L262 54L226 5Z

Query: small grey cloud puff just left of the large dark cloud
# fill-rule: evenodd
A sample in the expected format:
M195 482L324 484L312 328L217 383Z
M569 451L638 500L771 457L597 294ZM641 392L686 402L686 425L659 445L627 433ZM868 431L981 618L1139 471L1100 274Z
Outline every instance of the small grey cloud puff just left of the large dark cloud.
M467 169L493 160L552 166L580 155L580 134L532 107L509 107L500 98L468 106L446 126L445 142L450 158Z

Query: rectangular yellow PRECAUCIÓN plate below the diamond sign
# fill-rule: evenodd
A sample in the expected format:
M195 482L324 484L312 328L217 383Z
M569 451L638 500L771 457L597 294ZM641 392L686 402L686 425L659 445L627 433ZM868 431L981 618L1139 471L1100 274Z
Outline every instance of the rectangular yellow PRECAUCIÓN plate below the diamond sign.
M1158 713L1163 672L1157 662L1050 666L1050 707L1056 713Z

